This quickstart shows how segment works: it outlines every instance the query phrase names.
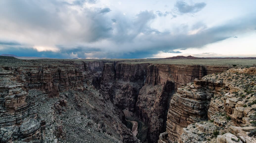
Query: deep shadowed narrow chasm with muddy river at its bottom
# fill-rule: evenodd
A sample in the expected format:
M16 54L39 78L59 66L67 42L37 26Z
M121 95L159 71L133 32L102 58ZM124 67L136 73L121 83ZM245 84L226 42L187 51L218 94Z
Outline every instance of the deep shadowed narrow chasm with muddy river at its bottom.
M148 81L148 64L105 63L102 74L92 84L105 99L109 99L122 113L121 121L141 142L155 143L166 131L167 112L175 82L167 80L154 84ZM158 71L158 70L157 70ZM124 120L124 117L125 120Z

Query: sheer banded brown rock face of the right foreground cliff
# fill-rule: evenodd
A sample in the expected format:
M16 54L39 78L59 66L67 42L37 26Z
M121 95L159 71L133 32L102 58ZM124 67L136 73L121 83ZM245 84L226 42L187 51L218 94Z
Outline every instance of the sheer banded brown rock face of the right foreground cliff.
M187 125L207 119L207 110L213 93L206 92L206 87L215 90L221 82L194 80L193 87L181 87L173 96L167 115L168 140L178 141ZM195 89L193 89L195 88Z

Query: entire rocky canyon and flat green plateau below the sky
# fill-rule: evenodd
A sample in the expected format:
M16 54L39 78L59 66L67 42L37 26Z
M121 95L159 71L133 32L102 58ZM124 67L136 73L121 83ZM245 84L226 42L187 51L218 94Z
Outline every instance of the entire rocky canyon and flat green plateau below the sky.
M0 56L0 142L256 142L253 64Z

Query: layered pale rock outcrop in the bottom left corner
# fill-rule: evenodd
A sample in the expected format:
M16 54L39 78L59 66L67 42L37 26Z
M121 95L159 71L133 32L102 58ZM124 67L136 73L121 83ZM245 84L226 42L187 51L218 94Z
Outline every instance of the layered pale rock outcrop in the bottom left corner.
M27 99L27 87L12 72L0 74L0 140L32 141L45 136L45 121L37 117L35 103Z

